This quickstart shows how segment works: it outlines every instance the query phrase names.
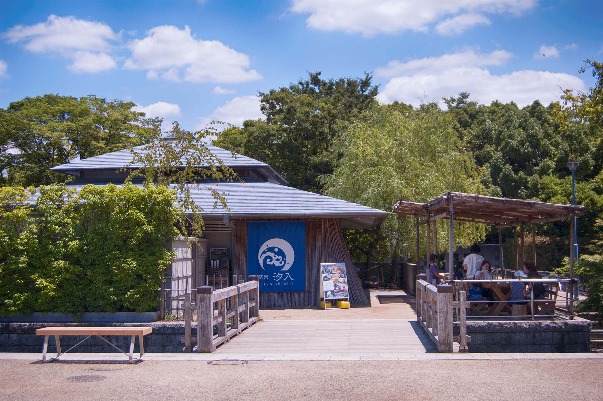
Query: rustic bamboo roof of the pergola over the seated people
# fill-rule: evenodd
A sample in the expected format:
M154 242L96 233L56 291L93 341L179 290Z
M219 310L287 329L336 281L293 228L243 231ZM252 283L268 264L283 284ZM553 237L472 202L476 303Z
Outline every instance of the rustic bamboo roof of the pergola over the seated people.
M419 224L449 218L452 210L455 221L489 224L496 227L514 227L527 223L546 223L567 219L571 216L582 216L585 209L586 206L446 192L428 203L400 200L394 204L392 211L425 217L425 221L421 221Z

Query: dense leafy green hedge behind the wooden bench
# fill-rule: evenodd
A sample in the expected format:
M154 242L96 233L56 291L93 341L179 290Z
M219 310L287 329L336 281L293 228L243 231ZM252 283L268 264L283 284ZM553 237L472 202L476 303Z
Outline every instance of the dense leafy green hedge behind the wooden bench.
M148 312L182 213L165 186L0 188L0 315ZM19 205L19 206L14 206Z

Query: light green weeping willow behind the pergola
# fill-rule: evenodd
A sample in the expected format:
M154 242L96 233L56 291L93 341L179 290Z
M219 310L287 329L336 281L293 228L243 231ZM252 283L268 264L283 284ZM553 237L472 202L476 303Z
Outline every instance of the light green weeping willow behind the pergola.
M371 107L335 140L334 151L343 156L333 174L321 177L324 194L391 210L400 199L426 202L446 191L483 193L475 161L463 151L452 122L452 116L437 107L406 113ZM403 248L414 244L414 224L403 215L386 219L382 235L390 254L416 253L414 247ZM447 229L440 224L438 243L444 247ZM483 235L484 228L476 224L455 227L455 240L461 243L470 244Z

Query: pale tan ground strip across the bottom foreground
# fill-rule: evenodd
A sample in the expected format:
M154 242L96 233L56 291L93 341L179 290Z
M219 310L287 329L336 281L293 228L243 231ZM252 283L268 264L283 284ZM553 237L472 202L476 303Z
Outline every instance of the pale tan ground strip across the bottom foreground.
M0 399L601 400L602 369L603 359L250 361L226 366L206 361L0 361ZM74 382L74 376L100 380Z

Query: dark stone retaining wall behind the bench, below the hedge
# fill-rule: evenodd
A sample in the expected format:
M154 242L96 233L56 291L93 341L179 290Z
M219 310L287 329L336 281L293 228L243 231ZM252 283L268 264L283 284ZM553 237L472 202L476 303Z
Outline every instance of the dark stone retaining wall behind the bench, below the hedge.
M182 352L184 344L180 342L185 334L182 322L162 323L0 323L0 352L42 352L44 336L36 335L36 329L42 327L153 327L153 332L144 336L145 352ZM197 322L192 322L191 332L197 332ZM85 336L61 336L61 349L68 350ZM130 347L130 336L110 336L115 346L125 352ZM134 352L138 351L136 339ZM54 336L48 340L48 352L57 352ZM97 336L86 339L74 349L74 352L117 352L115 348L105 343Z

